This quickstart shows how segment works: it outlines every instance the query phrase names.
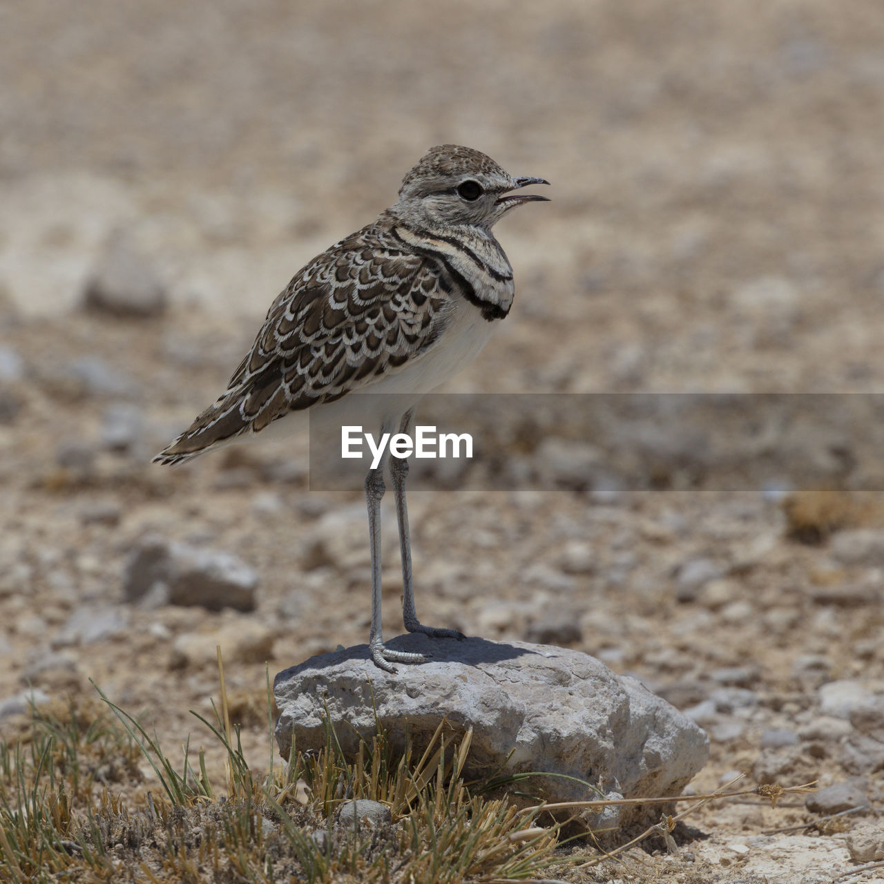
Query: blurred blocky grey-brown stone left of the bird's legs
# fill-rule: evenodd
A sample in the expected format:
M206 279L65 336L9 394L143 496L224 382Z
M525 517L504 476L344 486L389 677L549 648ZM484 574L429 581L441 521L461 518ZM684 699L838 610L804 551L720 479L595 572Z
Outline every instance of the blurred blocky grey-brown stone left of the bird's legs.
M230 552L145 537L129 557L123 578L126 601L162 593L170 605L210 611L255 610L258 575Z

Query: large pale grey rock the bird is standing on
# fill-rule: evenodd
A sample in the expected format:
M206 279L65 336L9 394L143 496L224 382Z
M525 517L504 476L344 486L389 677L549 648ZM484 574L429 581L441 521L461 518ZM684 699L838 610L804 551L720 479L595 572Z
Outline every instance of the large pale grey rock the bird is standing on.
M442 720L453 739L472 728L468 776L500 766L514 773L565 773L639 797L676 794L708 758L708 738L694 722L587 654L423 635L399 636L388 647L429 652L432 659L388 674L358 645L277 675L276 737L284 758L293 739L301 751L325 745L326 710L331 723L341 725L338 737L347 752L355 750L359 734L375 733L377 723L394 745L401 746L408 730L418 752ZM587 794L559 778L543 781L543 788L550 801ZM629 807L624 824L642 812ZM659 819L658 809L651 813Z

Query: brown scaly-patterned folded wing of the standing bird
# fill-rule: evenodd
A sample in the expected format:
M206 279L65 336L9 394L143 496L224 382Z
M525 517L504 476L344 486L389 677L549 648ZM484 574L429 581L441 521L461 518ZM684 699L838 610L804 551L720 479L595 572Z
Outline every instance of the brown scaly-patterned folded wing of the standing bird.
M451 281L376 225L299 271L217 400L155 461L175 463L399 370L448 323Z

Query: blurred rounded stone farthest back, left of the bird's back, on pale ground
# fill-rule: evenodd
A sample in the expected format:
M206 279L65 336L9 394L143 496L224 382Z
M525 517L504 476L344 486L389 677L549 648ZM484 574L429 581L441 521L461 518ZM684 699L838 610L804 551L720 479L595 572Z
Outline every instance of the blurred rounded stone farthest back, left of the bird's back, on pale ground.
M163 283L122 233L110 238L83 293L84 306L113 316L160 316L166 308Z

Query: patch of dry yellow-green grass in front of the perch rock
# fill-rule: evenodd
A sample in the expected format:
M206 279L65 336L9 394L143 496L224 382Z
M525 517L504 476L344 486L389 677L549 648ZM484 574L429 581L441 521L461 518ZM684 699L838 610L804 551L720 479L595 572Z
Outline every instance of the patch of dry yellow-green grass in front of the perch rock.
M329 725L324 750L302 754L293 747L288 764L280 765L271 736L270 770L257 774L243 755L239 727L230 725L223 667L219 673L215 720L196 717L225 749L223 789L211 781L202 751L192 765L186 745L176 765L158 736L101 690L101 701L32 710L27 732L14 744L0 743L0 880L560 880L551 874L599 880L594 866L620 865L623 851L652 835L674 850L676 822L708 801L762 794L723 787L707 796L663 796L656 800L664 811L684 800L690 807L664 815L611 852L591 837L568 845L562 838L568 820L557 822L552 812L647 799L524 807L500 791L522 778L464 780L469 734L449 743L443 725L420 758L410 745L395 753L380 728L346 758ZM144 759L153 771L147 779L140 770ZM759 789L775 803L806 787ZM392 823L337 825L340 806L356 798L386 804ZM636 880L643 880L641 873Z

